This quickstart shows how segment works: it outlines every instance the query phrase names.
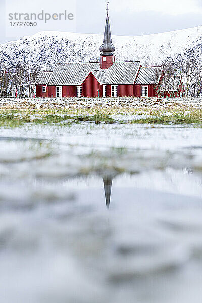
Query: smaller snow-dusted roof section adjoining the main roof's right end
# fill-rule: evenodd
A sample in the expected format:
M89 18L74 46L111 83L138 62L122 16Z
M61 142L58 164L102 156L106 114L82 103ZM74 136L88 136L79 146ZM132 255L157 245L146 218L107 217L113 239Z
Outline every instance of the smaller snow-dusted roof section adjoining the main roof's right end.
M154 85L160 80L161 67L140 67L135 84ZM157 81L158 80L158 81Z

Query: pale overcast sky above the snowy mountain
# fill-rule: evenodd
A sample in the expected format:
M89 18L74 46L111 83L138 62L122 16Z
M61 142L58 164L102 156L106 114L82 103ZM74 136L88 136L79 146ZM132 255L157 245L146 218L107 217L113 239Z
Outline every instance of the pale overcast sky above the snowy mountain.
M14 0L0 0L0 43L16 40L23 35L29 34L29 30L22 29L22 35L16 33L8 36L5 31L5 24L9 24L6 7ZM15 0L15 4L22 4L25 0ZM71 10L74 0L57 0L55 3L46 0L26 0L25 11L40 13L47 10L50 13L57 13L62 9ZM32 31L40 30L61 30L77 33L98 33L103 34L106 0L75 0L75 26L68 26L67 21L53 21L45 25L41 24ZM11 7L11 6L10 6ZM17 6L19 7L19 6ZM60 9L59 9L60 8ZM17 8L14 8L17 10ZM202 0L110 0L110 21L112 34L136 36L152 33L160 33L171 30L184 29L200 26L202 20Z

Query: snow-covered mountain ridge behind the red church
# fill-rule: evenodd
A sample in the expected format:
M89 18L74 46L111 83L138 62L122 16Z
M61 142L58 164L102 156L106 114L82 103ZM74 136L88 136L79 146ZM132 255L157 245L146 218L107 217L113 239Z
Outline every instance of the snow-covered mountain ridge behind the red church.
M202 26L173 32L125 37L113 36L116 61L142 61L149 65L169 57L193 53L202 61ZM44 68L57 62L99 60L103 35L44 31L0 45L0 61L11 64L27 58Z

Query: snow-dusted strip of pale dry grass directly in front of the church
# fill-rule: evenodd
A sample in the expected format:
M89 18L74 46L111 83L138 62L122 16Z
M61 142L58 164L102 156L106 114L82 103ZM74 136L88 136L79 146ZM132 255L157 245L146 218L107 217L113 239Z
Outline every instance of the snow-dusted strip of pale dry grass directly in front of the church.
M0 98L1 108L202 107L202 98Z

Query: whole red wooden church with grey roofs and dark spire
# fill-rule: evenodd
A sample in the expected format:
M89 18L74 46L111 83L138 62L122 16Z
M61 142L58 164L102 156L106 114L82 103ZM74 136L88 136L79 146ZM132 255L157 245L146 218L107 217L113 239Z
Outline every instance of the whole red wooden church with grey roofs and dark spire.
M163 69L142 67L140 61L115 61L108 13L100 52L100 62L58 63L53 71L41 72L36 84L36 97L158 96L157 87L163 77ZM165 97L180 96L182 85L179 77L175 79L174 86L172 93L169 88L165 90Z

